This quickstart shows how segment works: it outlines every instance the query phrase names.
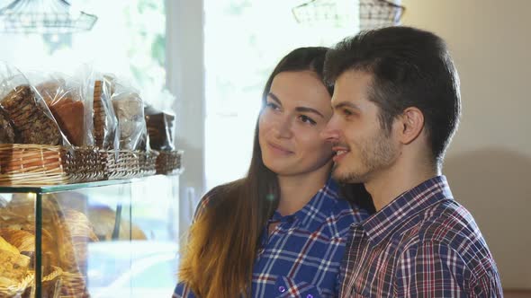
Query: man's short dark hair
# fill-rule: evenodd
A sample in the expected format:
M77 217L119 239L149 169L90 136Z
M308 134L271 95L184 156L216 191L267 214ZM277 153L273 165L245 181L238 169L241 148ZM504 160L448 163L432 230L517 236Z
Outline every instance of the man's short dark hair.
M372 74L369 100L380 108L387 132L403 110L422 111L428 144L440 165L461 113L459 77L445 41L410 27L364 31L339 42L327 54L328 83L350 70Z

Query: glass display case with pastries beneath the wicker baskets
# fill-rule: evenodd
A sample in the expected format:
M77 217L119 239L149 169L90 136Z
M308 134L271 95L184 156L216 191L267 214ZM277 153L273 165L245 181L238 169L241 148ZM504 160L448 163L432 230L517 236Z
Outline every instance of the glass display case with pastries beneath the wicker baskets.
M171 296L178 176L0 186L0 297Z

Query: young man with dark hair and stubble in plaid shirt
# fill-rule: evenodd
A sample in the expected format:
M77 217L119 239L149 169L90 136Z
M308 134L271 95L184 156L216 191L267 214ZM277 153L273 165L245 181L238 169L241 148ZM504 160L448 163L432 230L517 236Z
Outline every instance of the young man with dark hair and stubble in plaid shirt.
M364 183L377 213L351 226L342 297L496 297L500 276L472 215L441 175L461 110L445 42L408 27L329 51L334 177Z

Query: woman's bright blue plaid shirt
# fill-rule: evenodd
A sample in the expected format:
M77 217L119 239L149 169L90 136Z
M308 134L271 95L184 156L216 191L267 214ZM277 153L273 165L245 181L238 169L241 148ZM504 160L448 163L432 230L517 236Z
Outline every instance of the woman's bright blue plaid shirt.
M255 260L252 297L337 297L341 259L348 228L368 217L338 197L338 184L329 179L311 201L293 215L275 215L279 223L268 233ZM173 297L194 297L183 284Z

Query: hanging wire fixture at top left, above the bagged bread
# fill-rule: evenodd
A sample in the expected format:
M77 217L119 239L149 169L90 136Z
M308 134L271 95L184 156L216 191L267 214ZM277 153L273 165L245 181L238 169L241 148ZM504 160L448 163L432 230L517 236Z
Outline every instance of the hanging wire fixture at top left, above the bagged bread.
M94 14L73 8L65 0L14 0L0 9L0 31L11 33L72 33L90 31Z

